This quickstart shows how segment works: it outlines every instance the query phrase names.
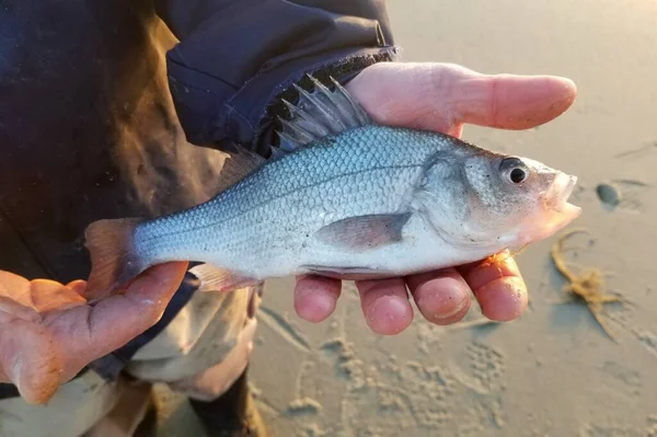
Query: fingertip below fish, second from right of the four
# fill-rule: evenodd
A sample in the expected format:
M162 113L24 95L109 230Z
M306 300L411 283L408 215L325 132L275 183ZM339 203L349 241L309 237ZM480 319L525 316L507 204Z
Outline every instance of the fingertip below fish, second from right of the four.
M417 309L431 323L456 323L470 309L470 287L456 268L408 276L406 284Z

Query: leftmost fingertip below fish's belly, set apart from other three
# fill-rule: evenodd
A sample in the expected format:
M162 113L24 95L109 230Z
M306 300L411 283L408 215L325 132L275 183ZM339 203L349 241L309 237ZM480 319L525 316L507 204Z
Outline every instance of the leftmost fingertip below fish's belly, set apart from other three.
M295 310L300 318L319 323L335 310L342 281L322 276L299 276L295 286Z

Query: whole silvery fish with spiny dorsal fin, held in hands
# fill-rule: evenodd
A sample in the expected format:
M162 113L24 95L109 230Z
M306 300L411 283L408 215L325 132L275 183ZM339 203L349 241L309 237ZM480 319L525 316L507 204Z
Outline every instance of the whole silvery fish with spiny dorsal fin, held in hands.
M447 134L377 124L336 80L308 76L284 101L278 143L209 200L84 231L88 290L117 292L151 266L187 261L230 291L292 275L382 279L476 261L557 232L581 208L577 176ZM238 153L238 152L235 152ZM239 152L249 153L249 152ZM247 160L249 161L249 160Z

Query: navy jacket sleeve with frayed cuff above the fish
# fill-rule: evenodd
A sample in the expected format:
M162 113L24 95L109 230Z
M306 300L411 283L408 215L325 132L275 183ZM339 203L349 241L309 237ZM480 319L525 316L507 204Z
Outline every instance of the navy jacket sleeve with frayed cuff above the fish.
M306 73L346 82L396 54L383 0L155 0L180 43L166 55L189 142L266 156L279 99ZM221 147L221 146L217 146Z

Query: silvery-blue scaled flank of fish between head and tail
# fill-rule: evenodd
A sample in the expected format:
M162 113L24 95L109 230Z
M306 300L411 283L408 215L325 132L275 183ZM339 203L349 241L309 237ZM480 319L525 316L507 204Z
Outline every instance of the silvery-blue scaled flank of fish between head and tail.
M300 251L304 230L312 234L345 217L397 211L427 157L441 147L435 137L418 137L424 141L407 147L404 130L377 127L300 149L184 212L184 220L173 215L138 227L139 256L160 260L200 249L227 268L266 268L280 252ZM307 214L318 208L323 215ZM163 238L162 229L174 238Z

